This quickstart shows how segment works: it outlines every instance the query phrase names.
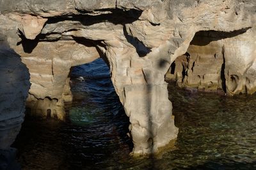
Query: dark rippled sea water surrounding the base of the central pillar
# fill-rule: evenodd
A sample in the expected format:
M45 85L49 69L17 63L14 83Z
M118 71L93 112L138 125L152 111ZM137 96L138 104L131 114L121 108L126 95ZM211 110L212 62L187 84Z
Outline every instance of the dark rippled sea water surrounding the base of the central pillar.
M82 77L82 78L81 78ZM72 71L67 122L26 118L14 145L23 169L256 169L256 96L169 85L176 149L132 159L129 120L100 59Z

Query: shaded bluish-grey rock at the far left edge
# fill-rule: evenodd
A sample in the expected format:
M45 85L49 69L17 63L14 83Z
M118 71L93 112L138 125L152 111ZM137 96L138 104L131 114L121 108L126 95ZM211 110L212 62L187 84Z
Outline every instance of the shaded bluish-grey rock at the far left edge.
M4 46L0 36L0 169L10 169L15 150L10 148L24 120L29 72L20 56Z

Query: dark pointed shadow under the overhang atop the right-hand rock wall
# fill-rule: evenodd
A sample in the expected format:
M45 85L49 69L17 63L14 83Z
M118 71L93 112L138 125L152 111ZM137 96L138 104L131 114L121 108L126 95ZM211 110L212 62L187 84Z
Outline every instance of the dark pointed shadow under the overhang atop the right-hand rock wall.
M238 36L239 34L243 34L248 29L252 27L246 27L244 29L239 29L231 32L223 32L223 31L198 31L196 32L193 40L190 45L198 45L205 46L211 43L211 41L218 41L220 39L232 38L234 36Z

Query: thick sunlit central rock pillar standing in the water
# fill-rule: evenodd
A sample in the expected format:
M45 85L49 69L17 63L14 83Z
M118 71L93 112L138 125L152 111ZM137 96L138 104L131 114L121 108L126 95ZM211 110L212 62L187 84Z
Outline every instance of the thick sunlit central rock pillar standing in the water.
M154 62L138 57L134 48L110 48L106 55L111 80L131 122L133 153L157 153L177 138L178 132L164 81L166 72L154 68Z

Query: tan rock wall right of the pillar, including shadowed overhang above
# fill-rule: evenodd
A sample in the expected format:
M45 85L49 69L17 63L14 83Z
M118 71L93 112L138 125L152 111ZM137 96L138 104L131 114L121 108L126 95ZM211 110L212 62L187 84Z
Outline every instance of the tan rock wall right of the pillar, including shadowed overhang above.
M187 52L178 57L166 73L166 81L179 87L223 89L228 95L256 90L255 31L200 31Z

